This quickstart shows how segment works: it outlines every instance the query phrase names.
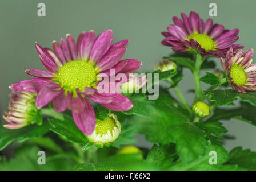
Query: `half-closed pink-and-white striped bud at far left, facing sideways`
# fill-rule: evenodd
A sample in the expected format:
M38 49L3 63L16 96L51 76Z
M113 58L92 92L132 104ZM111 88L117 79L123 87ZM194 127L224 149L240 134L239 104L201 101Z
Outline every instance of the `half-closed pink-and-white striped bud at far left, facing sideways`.
M37 94L26 91L11 93L9 112L3 115L5 121L9 123L3 126L7 129L19 129L37 122L39 110L35 106L35 97Z

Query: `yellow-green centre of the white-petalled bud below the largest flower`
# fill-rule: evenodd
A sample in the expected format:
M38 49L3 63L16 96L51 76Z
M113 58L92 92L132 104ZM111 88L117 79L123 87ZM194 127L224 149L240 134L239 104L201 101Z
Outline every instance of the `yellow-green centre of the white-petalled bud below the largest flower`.
M113 118L110 118L109 116L105 120L96 119L96 134L104 135L109 130L112 134L112 131L117 127L115 124L115 121Z

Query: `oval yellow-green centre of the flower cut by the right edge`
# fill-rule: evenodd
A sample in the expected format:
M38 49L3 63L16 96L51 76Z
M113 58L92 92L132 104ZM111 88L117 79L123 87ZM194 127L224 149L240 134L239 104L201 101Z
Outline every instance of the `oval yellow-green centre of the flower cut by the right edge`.
M233 79L234 84L237 86L246 84L247 75L243 68L237 64L233 64L231 66L230 77Z

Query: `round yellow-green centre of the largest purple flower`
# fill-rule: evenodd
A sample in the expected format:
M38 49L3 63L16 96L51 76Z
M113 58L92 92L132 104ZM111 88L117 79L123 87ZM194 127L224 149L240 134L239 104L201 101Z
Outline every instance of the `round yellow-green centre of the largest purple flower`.
M91 87L97 81L97 71L93 63L83 60L70 61L59 69L58 81L65 91L75 92Z

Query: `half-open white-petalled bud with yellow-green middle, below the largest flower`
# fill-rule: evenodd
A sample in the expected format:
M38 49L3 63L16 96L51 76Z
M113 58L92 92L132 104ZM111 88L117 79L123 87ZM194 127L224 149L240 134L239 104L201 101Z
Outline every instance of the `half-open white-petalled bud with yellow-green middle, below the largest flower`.
M109 114L103 121L96 119L96 126L91 135L86 135L89 142L96 147L110 146L115 142L121 132L121 123L113 113Z

